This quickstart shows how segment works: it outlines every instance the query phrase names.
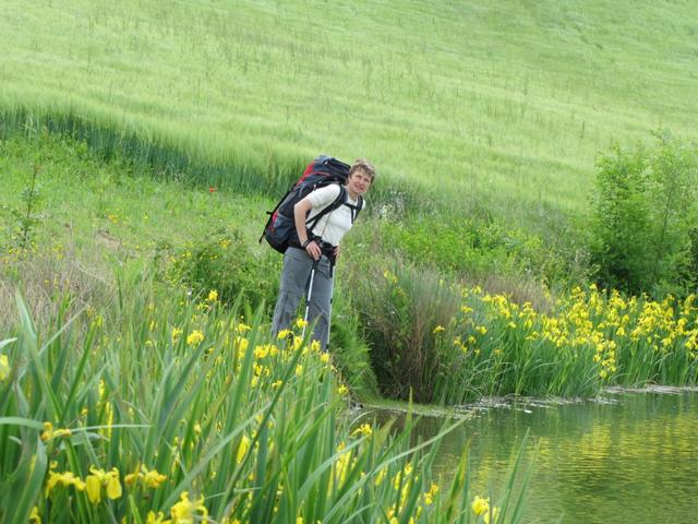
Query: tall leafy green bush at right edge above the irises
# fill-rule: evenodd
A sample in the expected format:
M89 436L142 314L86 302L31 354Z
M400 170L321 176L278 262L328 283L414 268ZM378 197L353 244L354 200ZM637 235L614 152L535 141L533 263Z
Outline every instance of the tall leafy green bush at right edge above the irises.
M603 287L661 295L694 282L698 150L658 138L654 148L615 146L598 162L590 251Z

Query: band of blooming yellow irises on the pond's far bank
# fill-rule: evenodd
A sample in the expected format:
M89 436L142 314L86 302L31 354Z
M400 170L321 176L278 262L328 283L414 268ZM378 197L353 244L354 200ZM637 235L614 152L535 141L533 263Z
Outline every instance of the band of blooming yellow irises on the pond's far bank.
M506 331L516 337L509 347L505 343L492 349L493 355L520 344L550 344L570 359L588 358L601 380L617 374L618 353L625 348L634 347L634 354L685 352L698 359L698 308L693 295L683 302L671 296L654 301L647 296L624 299L617 290L606 293L595 286L577 287L554 302L551 313L538 313L529 302L518 306L504 295L482 295L479 289L464 290L462 296L466 302L454 346L466 355L480 355L478 346L484 341L479 338L490 329L497 337L509 337Z

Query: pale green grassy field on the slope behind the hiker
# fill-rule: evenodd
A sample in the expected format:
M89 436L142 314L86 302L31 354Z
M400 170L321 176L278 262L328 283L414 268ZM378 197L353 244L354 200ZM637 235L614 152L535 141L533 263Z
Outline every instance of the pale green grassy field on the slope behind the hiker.
M134 132L232 186L322 151L466 211L579 212L597 152L693 132L696 20L691 1L7 0L0 107Z

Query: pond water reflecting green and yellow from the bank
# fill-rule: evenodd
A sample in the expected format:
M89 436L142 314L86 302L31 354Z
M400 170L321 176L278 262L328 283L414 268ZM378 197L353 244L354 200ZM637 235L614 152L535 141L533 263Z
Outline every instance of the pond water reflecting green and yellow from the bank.
M698 522L698 392L609 392L583 402L517 401L473 406L444 438L435 469L453 475L470 442L473 495L495 496L529 431L524 460L538 448L525 522ZM383 412L378 418L388 415ZM425 417L417 432L436 434ZM495 497L496 498L496 497Z

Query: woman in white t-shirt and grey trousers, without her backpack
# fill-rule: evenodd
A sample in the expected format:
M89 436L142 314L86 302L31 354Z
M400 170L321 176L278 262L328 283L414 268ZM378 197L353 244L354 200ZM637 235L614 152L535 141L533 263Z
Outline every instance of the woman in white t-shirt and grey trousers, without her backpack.
M357 159L349 169L345 184L345 205L325 214L306 229L306 222L330 205L340 194L339 184L333 183L309 193L293 206L293 219L298 235L284 253L284 269L279 283L279 296L274 309L272 332L274 336L287 329L296 319L298 305L310 293L309 323L316 322L313 338L326 350L329 340L329 315L333 286L333 269L339 255L339 242L351 228L361 195L368 191L375 177L375 168L365 158ZM310 213L310 214L309 214ZM314 273L312 272L315 265ZM311 273L312 289L309 289Z

